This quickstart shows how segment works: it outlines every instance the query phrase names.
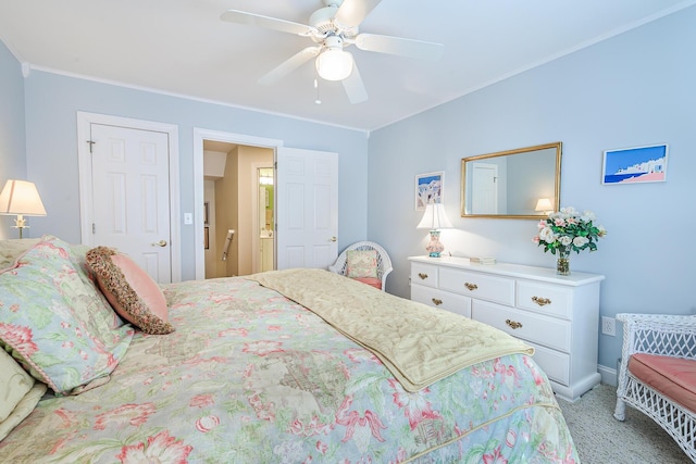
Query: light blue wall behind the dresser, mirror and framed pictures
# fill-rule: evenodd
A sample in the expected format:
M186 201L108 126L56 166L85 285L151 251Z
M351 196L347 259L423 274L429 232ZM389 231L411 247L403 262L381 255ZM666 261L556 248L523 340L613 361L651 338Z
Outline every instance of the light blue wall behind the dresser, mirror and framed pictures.
M427 241L415 229L419 173L446 173L449 251L554 266L532 242L536 221L459 217L460 160L560 140L562 205L594 211L609 230L597 252L571 258L572 269L606 276L601 315L696 312L695 45L693 7L374 131L368 236L394 262L389 292L409 296L407 256ZM663 142L666 183L600 184L604 150ZM599 363L616 368L621 334L599 338Z

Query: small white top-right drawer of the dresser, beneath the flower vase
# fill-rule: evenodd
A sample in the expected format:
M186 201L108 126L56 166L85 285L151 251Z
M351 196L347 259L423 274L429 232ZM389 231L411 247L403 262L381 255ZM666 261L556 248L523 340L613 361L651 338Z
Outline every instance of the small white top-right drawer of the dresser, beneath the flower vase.
M518 308L570 319L572 304L573 290L570 288L518 280Z

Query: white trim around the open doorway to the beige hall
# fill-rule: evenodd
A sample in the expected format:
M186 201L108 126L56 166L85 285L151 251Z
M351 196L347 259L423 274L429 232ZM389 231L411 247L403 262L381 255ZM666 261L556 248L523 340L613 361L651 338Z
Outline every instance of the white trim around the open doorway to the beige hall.
M203 140L271 148L273 149L274 162L277 160L277 149L284 146L283 140L278 139L194 127L194 224L203 223ZM203 247L202 227L195 228L194 238L196 243L194 247L196 255L196 280L202 280L206 278L206 249Z

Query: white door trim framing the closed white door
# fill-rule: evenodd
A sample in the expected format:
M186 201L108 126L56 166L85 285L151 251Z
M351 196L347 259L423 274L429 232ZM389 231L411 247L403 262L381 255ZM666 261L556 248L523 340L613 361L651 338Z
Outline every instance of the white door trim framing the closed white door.
M77 163L79 171L79 225L80 242L94 246L91 225L94 223L94 197L91 178L90 134L91 124L104 126L127 127L140 130L164 133L169 142L169 176L170 176L170 241L176 243L170 247L172 281L182 280L182 242L179 221L179 174L178 174L178 126L175 124L158 123L153 121L135 120L130 117L111 116L108 114L77 111Z

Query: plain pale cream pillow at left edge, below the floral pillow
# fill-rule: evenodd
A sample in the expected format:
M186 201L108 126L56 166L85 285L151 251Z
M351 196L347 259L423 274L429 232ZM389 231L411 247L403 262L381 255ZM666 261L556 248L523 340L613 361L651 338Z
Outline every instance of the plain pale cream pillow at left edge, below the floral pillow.
M0 440L10 434L46 393L14 359L0 348Z

